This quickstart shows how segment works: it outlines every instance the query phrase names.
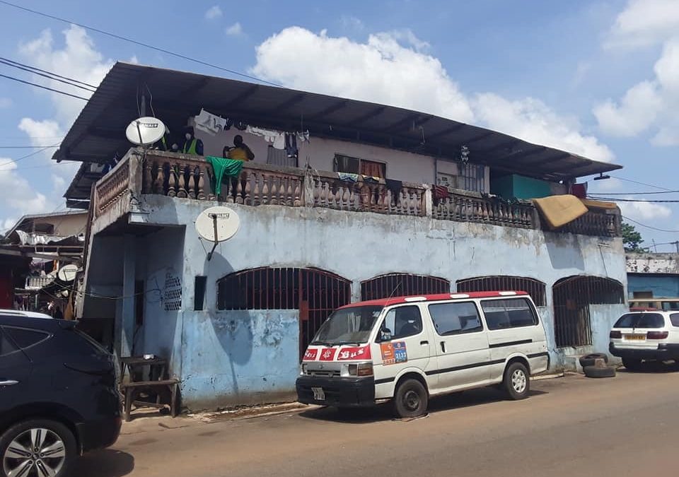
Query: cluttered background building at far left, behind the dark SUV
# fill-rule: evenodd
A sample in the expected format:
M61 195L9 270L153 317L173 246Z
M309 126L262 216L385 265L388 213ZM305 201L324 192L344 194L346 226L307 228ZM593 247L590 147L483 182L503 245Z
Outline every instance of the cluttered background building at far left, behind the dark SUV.
M27 215L8 230L0 240L0 261L13 262L2 267L11 283L0 292L0 307L44 311L51 302L52 314L74 317L73 281L58 272L69 264L82 266L87 216L87 211Z

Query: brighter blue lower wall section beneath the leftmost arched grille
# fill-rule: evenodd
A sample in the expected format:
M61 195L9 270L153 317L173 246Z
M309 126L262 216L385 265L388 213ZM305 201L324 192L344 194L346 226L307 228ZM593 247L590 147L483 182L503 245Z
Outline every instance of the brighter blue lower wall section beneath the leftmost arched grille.
M294 399L296 310L187 312L182 396L194 408Z

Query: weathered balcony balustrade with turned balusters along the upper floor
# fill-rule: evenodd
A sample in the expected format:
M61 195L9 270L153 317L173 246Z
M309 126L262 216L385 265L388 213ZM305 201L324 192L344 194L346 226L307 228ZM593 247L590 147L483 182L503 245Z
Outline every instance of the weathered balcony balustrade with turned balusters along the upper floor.
M134 208L139 194L219 201L246 206L332 208L398 216L431 217L457 222L549 230L530 201L505 201L497 196L455 190L434 201L431 188L403 183L393 192L386 184L346 182L336 172L245 163L238 179L224 181L221 193L210 187L212 167L191 155L131 149L95 186L93 214L113 218ZM110 212L116 211L116 212ZM112 218L112 219L113 219ZM588 213L554 232L620 237L620 211L590 207Z

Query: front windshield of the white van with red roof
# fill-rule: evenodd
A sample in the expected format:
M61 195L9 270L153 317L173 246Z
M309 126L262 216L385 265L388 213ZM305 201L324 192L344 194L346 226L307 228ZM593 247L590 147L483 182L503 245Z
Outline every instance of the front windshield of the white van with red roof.
M366 343L381 311L382 307L379 306L336 310L323 323L310 344L337 346Z

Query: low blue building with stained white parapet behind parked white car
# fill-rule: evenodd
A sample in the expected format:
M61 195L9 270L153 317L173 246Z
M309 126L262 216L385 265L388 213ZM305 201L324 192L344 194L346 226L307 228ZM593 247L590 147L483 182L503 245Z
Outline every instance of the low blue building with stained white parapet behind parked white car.
M679 298L679 254L627 253L627 298Z

